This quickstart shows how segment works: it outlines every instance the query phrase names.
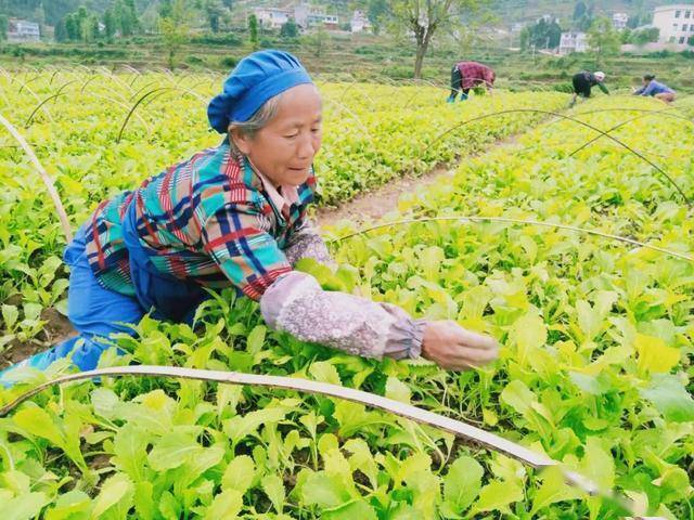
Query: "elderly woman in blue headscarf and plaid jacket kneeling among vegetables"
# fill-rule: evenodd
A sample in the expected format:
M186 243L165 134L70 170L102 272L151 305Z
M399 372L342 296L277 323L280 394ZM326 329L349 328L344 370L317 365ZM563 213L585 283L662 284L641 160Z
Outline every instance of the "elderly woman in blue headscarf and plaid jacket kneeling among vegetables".
M305 257L330 262L306 216L321 98L296 57L273 50L245 57L207 112L224 134L219 146L104 200L65 249L68 317L79 335L14 367L43 369L70 356L77 368L94 368L112 333L133 334L127 324L145 313L190 321L205 287L229 286L259 301L271 328L351 354L424 355L450 369L497 356L489 337L325 291L293 270Z

